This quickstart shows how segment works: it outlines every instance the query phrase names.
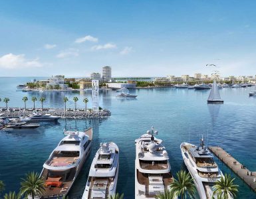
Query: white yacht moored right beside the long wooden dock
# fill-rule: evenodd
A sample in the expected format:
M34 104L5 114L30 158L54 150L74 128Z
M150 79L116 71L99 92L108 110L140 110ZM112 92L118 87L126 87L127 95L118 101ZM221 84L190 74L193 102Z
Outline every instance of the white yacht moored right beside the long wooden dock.
M199 147L190 143L180 145L184 163L192 175L193 182L201 199L217 198L213 196L213 186L223 176L218 165L213 160L213 155L208 151L200 139Z

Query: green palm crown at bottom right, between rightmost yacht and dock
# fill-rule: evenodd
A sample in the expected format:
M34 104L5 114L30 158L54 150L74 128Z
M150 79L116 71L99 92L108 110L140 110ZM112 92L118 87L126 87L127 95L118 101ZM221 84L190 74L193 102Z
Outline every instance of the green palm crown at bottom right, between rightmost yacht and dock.
M233 184L234 180L235 178L231 178L230 174L221 176L220 180L217 180L213 186L213 194L217 194L217 198L235 198L238 185Z

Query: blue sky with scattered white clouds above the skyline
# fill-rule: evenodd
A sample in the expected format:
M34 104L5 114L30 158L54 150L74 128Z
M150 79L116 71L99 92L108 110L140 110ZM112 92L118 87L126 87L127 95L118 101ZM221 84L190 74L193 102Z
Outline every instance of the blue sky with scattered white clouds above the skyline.
M256 1L1 1L0 76L256 75ZM206 64L215 64L208 67Z

